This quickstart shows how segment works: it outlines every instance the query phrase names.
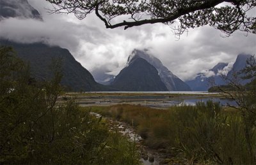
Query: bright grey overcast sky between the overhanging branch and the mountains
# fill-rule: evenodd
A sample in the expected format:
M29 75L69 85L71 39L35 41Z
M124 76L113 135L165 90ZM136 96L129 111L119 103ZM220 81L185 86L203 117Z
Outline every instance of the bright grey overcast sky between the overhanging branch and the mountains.
M212 27L189 29L177 40L167 25L106 29L94 15L78 20L74 15L49 15L44 0L28 0L42 15L40 20L8 18L0 23L0 37L33 43L44 41L67 48L89 71L105 69L118 74L134 48L148 48L182 80L211 69L218 62L234 62L241 53L256 54L256 35L235 32L229 38Z

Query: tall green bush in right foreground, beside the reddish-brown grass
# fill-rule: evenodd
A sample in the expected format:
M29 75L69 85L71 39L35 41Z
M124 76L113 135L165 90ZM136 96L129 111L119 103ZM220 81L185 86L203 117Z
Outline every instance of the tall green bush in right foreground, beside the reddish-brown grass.
M184 106L175 111L177 147L189 163L251 164L239 113L227 115L211 101ZM256 138L253 132L253 151Z

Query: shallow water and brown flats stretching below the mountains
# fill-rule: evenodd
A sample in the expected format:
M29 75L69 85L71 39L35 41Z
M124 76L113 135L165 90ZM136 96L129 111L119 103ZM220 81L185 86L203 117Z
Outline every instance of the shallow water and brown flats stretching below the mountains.
M93 95L94 93L95 95ZM104 94L100 95L99 93ZM195 106L198 101L206 103L209 100L220 103L221 106L237 106L236 102L231 99L217 97L217 95L208 92L90 92L88 95L77 96L76 98L80 106L140 104L152 108L168 108L184 104Z

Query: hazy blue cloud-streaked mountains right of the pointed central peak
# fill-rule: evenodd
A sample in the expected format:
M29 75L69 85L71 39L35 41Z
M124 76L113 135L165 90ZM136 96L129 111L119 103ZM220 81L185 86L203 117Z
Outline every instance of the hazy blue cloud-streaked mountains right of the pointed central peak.
M227 82L224 81L223 76L221 73L227 76L227 78L233 78L234 73L240 71L244 67L246 67L246 60L250 58L252 55L248 54L239 54L237 55L236 62L232 66L232 68L227 68L227 63L218 63L209 71L212 71L211 76L205 75L205 73L198 73L197 76L193 80L186 81L189 87L191 87L194 91L207 91L210 87L214 85L225 85ZM225 70L227 68L227 71ZM223 70L224 69L224 70ZM227 72L227 73L225 73ZM246 84L250 82L250 80L242 80L239 79L239 83Z

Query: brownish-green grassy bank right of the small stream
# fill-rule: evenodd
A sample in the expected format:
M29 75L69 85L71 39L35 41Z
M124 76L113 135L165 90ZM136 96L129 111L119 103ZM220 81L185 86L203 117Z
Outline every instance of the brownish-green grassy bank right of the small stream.
M248 142L256 152L256 134L246 141L244 124L238 111L221 109L217 103L156 110L120 104L84 108L127 122L150 148L166 150L169 158L192 163L250 164ZM254 130L254 129L253 129Z

